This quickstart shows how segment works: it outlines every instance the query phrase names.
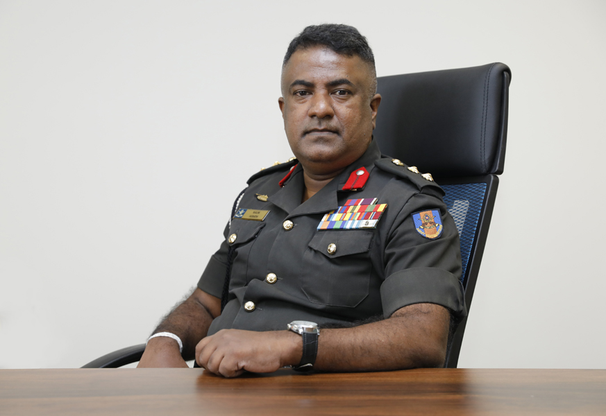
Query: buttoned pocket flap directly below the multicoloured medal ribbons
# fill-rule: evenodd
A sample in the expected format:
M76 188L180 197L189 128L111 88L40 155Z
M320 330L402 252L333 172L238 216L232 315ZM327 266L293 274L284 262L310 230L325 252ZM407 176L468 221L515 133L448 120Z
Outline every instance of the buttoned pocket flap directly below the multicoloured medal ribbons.
M370 250L372 240L373 233L361 229L320 231L310 241L309 246L326 257L334 259L335 257L367 252ZM328 252L330 244L335 245L333 254Z

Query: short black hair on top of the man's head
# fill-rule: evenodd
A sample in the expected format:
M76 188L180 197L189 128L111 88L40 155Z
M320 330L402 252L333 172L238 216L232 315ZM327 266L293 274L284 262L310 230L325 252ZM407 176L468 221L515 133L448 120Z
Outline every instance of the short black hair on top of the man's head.
M283 66L297 49L323 45L340 55L357 55L364 62L375 66L373 51L366 40L353 26L346 24L319 24L303 29L288 45Z

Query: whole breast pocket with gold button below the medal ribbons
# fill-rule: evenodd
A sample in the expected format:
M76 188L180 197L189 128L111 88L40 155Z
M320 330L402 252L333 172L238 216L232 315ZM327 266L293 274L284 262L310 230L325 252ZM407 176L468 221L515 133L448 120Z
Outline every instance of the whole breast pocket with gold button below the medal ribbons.
M369 292L372 232L321 231L308 245L301 267L301 287L310 302L357 306Z

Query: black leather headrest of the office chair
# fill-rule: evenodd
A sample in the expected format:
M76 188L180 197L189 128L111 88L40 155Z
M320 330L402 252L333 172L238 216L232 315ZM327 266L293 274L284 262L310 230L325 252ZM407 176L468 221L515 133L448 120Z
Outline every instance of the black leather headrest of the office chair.
M511 70L501 63L378 78L382 153L437 177L503 173Z

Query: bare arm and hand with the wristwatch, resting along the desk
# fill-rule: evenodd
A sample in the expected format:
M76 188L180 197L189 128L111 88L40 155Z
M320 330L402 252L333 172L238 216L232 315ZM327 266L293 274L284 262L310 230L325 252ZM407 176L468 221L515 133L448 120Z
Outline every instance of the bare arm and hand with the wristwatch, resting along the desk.
M380 371L438 367L446 358L450 313L436 304L414 304L390 318L353 328L321 329L314 367L323 371ZM233 377L245 370L273 372L301 361L301 336L292 331L226 329L201 340L196 361Z

